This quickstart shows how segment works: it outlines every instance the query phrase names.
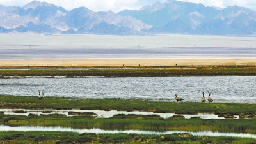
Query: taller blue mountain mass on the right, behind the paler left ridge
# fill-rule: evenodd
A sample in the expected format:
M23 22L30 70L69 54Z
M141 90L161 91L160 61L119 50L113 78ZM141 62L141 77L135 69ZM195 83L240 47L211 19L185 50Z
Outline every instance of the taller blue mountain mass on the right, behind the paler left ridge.
M118 15L131 16L153 27L150 33L180 34L255 34L256 11L239 6L216 8L180 1L157 2L140 10L124 10Z

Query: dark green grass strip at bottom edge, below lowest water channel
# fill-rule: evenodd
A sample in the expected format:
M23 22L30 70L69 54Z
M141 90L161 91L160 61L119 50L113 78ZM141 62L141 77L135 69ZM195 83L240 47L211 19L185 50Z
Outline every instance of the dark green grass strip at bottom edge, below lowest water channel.
M193 136L191 134L92 134L60 132L1 132L0 143L256 143L253 138Z

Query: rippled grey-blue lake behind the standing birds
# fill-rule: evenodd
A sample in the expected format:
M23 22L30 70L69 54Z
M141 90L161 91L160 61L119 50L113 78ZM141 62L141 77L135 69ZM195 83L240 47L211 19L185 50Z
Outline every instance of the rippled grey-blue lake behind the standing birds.
M38 90L51 97L124 98L175 102L200 102L202 92L211 92L218 103L256 103L255 76L214 77L86 77L0 79L0 94L38 96Z

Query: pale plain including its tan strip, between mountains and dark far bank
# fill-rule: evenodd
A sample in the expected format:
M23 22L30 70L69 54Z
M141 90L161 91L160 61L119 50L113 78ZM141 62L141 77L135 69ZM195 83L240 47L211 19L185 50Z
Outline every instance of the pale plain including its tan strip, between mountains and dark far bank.
M138 50L138 47L140 50ZM0 67L256 65L254 36L0 34Z

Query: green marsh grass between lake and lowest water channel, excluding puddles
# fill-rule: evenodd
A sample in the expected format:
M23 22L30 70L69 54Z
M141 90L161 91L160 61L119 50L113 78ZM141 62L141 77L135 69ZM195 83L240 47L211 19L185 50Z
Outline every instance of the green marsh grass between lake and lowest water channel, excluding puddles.
M47 97L1 96L1 108L26 109L81 109L81 110L140 110L147 112L217 113L218 115L248 115L250 119L184 119L159 115L114 115L109 119L96 119L94 113L81 113L76 117L65 115L4 115L0 124L8 126L60 126L100 129L141 129L151 131L220 131L256 134L255 104L232 103L168 103L150 101L122 101L120 99L54 99ZM17 111L23 113L22 111ZM74 112L70 112L73 113Z

